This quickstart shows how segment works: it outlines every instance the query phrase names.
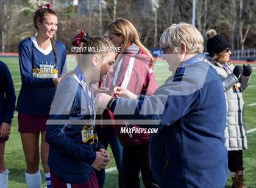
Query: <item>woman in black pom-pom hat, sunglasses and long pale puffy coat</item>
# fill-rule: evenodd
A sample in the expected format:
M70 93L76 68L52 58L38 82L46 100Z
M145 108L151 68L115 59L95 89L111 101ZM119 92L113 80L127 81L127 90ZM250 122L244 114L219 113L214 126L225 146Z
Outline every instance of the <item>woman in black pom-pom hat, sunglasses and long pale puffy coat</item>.
M251 65L236 65L230 62L231 45L215 30L206 33L206 58L215 65L225 90L227 106L227 127L225 130L228 150L228 167L231 172L232 187L244 188L243 150L247 149L246 124L244 122L243 91L249 85Z

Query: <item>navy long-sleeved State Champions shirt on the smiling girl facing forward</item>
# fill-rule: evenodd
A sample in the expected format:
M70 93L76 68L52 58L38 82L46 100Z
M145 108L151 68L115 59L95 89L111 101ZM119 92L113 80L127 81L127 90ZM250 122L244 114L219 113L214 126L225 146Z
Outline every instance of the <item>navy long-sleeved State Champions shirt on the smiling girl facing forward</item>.
M49 115L54 98L55 86L52 78L61 77L66 72L66 48L55 41L59 62L55 62L53 50L44 55L37 49L32 39L24 39L19 45L21 90L16 110L27 115Z

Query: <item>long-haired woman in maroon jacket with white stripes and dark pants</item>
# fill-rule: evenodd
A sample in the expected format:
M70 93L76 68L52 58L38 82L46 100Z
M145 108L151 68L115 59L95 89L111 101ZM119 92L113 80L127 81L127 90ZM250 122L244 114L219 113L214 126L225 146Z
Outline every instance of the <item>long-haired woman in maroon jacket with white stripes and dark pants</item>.
M152 71L152 56L141 44L133 24L126 19L116 19L108 25L108 38L121 49L113 70L112 88L121 86L136 95L152 95L157 89ZM123 186L140 187L141 172L145 187L158 187L149 169L149 133L120 133L121 127L132 129L137 126L125 121L123 126L115 126L123 145Z

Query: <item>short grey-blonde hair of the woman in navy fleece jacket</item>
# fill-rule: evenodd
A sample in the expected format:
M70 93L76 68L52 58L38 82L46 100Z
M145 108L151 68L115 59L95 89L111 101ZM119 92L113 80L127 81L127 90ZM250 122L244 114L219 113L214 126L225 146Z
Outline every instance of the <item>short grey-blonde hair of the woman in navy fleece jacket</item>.
M160 47L169 47L173 53L181 50L182 43L186 45L188 53L201 53L204 50L201 33L193 25L184 22L172 24L160 38Z

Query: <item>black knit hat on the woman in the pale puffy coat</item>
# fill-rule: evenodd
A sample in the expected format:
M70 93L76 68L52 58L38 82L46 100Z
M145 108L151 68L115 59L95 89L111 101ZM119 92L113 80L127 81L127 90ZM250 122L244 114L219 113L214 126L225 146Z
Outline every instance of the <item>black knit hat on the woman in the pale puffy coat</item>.
M210 56L231 48L229 41L222 35L215 35L207 40L207 52Z

